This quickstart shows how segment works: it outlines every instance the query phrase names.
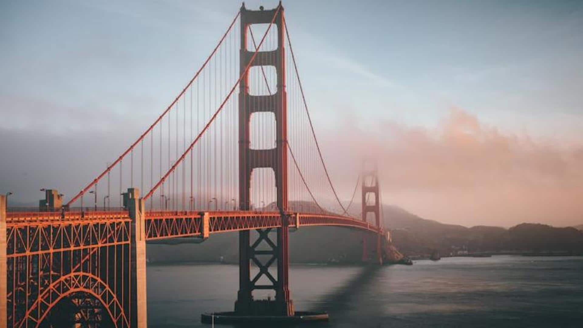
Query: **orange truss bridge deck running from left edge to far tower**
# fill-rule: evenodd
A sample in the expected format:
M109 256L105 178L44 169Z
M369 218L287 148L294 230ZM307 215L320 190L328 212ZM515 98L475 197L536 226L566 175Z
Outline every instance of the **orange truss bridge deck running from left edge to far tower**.
M205 215L208 218L205 223ZM345 226L382 233L367 222L333 214L289 213L290 228L300 226ZM127 211L8 212L6 214L8 257L55 250L76 250L129 242ZM203 236L252 229L278 228L279 212L256 211L147 211L146 240Z

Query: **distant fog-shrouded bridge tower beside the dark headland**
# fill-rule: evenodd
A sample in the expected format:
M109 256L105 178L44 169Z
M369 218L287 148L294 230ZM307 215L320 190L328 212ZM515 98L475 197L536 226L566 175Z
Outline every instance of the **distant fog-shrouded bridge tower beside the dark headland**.
M362 189L362 218L363 221L367 221L367 214L374 213L374 224L377 228L381 227L381 204L380 195L378 188L378 168L374 165L372 168L367 167L367 163L363 163L363 172L361 174L361 189ZM372 203L371 200L374 200ZM381 234L377 233L377 261L382 264L382 252L381 252ZM368 233L363 233L363 262L368 261L368 241L370 235Z

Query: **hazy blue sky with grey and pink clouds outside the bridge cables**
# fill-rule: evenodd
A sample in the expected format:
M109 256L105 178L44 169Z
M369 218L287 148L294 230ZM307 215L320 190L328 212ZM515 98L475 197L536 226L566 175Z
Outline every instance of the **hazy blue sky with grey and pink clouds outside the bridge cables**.
M260 4L277 2L246 2ZM79 190L174 99L240 5L0 0L0 192ZM374 153L385 203L423 218L583 224L583 2L283 5L341 198Z

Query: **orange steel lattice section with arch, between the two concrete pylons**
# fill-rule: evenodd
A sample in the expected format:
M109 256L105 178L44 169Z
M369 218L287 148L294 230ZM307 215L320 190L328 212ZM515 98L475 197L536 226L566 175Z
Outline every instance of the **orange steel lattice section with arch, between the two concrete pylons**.
M7 326L39 326L65 296L131 326L130 229L128 212L7 213Z

